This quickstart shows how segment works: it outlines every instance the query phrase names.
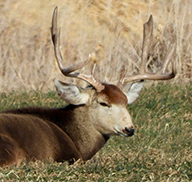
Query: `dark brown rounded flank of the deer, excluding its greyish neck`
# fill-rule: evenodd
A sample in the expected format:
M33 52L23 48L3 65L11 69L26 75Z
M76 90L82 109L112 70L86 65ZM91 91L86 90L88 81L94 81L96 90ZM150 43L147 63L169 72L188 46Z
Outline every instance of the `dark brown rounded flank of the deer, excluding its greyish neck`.
M25 114L11 114L19 112ZM81 158L65 132L43 115L38 116L42 112L42 109L20 109L0 115L0 165L18 164L18 159L63 161Z

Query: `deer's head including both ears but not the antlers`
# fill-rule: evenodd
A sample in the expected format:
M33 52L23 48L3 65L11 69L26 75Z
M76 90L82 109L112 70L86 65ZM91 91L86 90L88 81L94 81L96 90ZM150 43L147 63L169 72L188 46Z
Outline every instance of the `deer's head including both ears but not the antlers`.
M131 116L126 109L128 100L134 101L136 92L131 89L131 98L128 94L123 93L117 86L103 84L104 89L97 92L95 89L82 89L76 85L66 84L56 80L55 86L60 97L73 105L85 104L87 107L87 118L94 127L105 135L132 136L134 126ZM138 88L138 86L137 86Z

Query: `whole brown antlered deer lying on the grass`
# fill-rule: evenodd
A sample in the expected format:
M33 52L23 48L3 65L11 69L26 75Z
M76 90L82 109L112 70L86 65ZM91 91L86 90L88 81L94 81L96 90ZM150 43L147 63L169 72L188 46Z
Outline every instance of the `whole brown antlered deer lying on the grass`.
M162 69L157 73L146 70L148 52L152 41L153 18L144 24L142 65L140 73L125 77L123 69L116 85L100 83L91 75L74 72L84 67L90 59L63 66L59 49L57 7L53 12L51 35L55 57L61 72L68 77L82 79L91 86L81 88L55 81L59 96L69 103L64 108L21 108L0 113L0 166L19 165L26 160L69 161L90 159L111 135L123 137L134 134L134 126L126 106L133 103L143 87L143 80L168 80L175 77L176 69L166 73L174 48L167 54ZM123 87L132 81L128 93Z

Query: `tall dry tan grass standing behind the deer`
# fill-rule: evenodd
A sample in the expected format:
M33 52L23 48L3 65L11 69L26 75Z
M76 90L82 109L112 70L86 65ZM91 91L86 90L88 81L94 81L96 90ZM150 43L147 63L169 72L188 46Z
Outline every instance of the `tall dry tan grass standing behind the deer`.
M100 81L116 84L122 66L126 75L138 72L143 23L152 14L155 38L149 70L158 70L176 44L178 74L170 82L191 82L191 0L0 0L1 92L47 91L54 89L55 78L77 82L60 74L54 58L50 26L55 6L66 67L95 52L95 77ZM81 73L90 74L91 66Z

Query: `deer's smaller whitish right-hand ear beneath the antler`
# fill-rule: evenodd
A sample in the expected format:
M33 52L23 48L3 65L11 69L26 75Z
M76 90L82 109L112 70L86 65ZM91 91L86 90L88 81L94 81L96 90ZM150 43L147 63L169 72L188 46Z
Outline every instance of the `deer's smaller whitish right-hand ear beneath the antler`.
M126 93L125 95L127 96L127 104L132 104L137 100L139 97L139 94L143 88L144 81L141 82L136 82L131 85L131 88L129 89L129 92Z

